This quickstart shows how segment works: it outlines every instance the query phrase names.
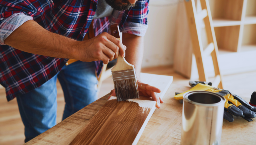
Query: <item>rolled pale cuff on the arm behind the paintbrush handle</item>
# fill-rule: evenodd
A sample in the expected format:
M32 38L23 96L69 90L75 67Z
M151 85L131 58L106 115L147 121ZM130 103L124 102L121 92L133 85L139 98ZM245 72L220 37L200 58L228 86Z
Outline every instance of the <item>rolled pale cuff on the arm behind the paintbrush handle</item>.
M146 34L147 29L148 25L146 24L126 22L124 23L121 32L143 37Z

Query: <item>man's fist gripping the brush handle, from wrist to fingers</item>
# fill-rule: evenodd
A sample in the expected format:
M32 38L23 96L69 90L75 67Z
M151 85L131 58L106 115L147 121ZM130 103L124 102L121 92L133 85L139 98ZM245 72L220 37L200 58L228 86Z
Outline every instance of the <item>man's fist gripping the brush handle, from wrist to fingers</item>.
M116 59L118 54L125 56L126 46L120 40L108 33L102 33L92 39L78 42L77 53L74 58L81 61L91 62L102 60L104 64Z

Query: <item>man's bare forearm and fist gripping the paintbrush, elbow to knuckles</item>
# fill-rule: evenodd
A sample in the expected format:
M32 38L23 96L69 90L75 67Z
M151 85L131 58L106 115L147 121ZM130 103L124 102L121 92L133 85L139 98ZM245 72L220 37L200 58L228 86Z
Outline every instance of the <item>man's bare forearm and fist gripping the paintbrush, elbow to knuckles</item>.
M102 33L86 41L77 41L45 30L37 22L29 20L14 30L5 44L21 51L57 58L72 58L81 61L102 60L104 64L125 56L126 47L108 33Z

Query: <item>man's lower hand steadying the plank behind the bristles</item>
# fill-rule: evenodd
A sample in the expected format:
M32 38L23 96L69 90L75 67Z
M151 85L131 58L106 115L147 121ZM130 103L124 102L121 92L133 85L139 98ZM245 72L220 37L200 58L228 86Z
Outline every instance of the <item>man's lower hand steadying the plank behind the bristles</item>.
M142 83L140 80L137 80L137 82L139 88L139 95L145 97L152 97L152 99L156 101L156 108L160 108L160 103L164 103L164 101L160 97L158 97L156 93L160 93L161 90L148 84ZM116 96L115 89L111 90L108 99L111 96Z

